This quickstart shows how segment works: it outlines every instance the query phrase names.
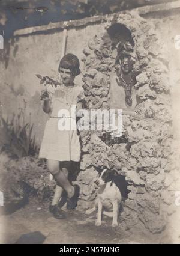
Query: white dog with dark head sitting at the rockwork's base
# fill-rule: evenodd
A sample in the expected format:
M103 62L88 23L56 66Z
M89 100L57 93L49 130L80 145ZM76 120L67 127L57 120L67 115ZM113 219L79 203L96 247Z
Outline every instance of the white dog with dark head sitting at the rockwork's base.
M98 209L97 221L95 223L96 226L101 225L102 213L106 216L113 217L112 227L118 226L118 213L122 196L119 188L115 184L117 178L118 172L110 169L104 169L100 178L95 181L99 186L95 206L92 209L86 210L86 214L89 215ZM125 177L121 176L120 183L123 183L123 186L127 185L125 184L127 183L127 181L125 181Z

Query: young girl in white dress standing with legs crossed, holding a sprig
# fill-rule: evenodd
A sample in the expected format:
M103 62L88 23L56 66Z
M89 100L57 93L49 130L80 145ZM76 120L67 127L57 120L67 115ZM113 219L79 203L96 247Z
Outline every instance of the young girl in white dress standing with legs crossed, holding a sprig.
M74 78L79 75L79 59L73 54L65 55L59 64L60 83L49 85L47 90L42 91L41 100L43 100L43 111L49 114L44 130L43 141L40 148L40 158L46 158L49 171L55 178L56 186L55 195L50 212L58 219L65 218L64 212L59 209L58 201L63 190L67 192L67 203L70 209L76 207L79 197L79 187L73 186L68 180L68 173L71 161L79 162L80 160L80 141L77 130L59 129L59 121L67 122L71 118L71 105L81 108L82 87L74 84ZM59 111L69 111L69 114L59 115ZM76 116L75 116L76 118ZM74 118L74 119L75 119ZM73 120L76 122L76 120Z

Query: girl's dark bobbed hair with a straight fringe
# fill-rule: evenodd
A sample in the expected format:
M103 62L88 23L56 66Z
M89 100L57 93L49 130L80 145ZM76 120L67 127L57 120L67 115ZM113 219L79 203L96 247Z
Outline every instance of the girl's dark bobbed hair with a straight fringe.
M62 69L70 69L73 76L78 76L80 74L80 69L79 69L79 59L77 58L76 55L68 53L64 55L64 57L61 59L59 63L59 69L58 71L60 72L60 68Z

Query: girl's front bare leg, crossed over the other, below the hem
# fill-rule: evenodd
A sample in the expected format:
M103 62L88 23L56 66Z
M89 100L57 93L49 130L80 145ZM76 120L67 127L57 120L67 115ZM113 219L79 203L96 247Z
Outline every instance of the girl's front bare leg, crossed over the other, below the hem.
M70 184L70 181L68 181L68 178L64 175L64 172L62 172L59 169L59 161L58 160L47 160L47 164L48 164L49 171L52 173L58 186L61 186L67 192L68 198L73 197L74 187ZM67 169L67 168L65 168L65 169ZM66 171L66 170L64 170L64 171Z

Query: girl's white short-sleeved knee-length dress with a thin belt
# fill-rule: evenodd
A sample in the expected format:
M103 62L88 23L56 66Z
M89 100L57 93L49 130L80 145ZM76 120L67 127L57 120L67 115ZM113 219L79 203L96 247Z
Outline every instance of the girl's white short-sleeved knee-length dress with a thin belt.
M80 139L72 105L73 109L76 109L77 103L83 97L83 88L76 84L57 87L49 85L47 91L51 100L51 111L44 130L39 157L79 162Z

